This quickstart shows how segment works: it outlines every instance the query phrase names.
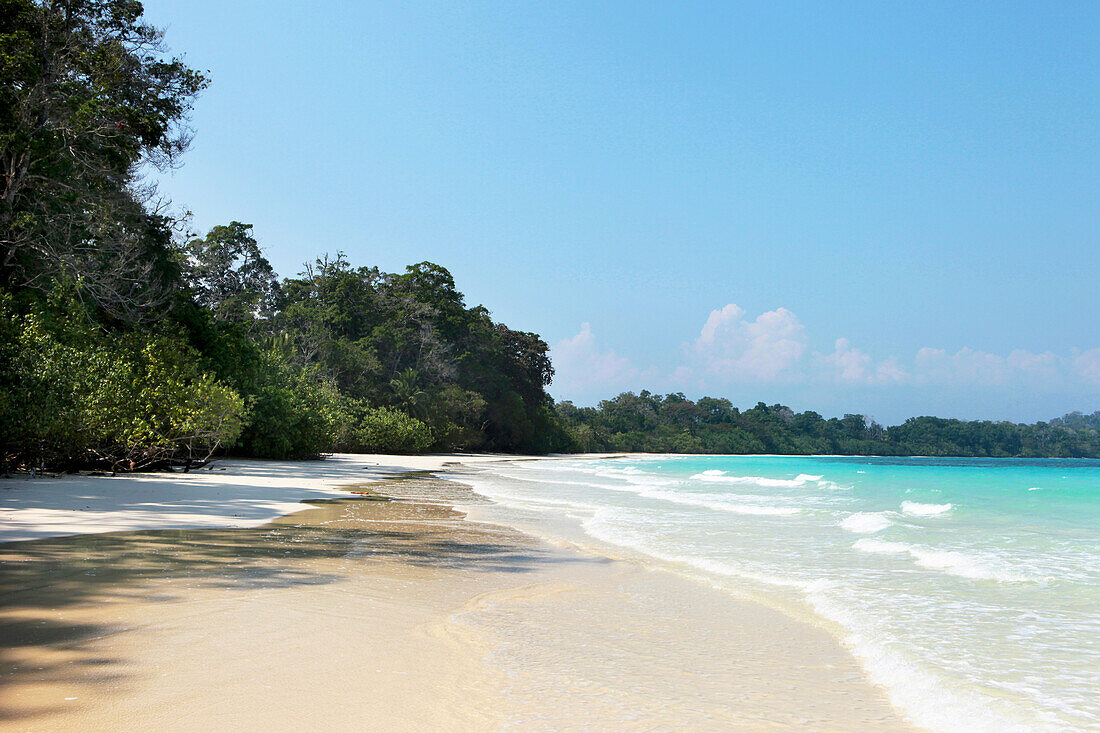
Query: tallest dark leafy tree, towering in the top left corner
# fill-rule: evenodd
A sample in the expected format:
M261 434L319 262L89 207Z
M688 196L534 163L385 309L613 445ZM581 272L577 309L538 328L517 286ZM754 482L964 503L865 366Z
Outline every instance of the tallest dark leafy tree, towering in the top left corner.
M108 316L146 320L178 269L139 171L187 147L206 79L166 56L134 0L0 10L0 286L65 277Z

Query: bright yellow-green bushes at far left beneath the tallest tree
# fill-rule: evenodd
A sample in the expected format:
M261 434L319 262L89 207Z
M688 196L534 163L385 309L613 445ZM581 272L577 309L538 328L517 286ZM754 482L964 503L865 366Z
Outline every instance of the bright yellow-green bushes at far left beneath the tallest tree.
M16 313L0 299L7 467L147 468L204 459L240 435L244 404L178 335L110 335L70 293Z

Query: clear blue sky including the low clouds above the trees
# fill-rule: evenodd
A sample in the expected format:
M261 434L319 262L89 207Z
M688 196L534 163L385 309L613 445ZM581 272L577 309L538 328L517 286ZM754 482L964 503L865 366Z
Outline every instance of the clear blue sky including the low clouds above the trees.
M442 264L558 397L1100 409L1100 4L145 8L196 229Z

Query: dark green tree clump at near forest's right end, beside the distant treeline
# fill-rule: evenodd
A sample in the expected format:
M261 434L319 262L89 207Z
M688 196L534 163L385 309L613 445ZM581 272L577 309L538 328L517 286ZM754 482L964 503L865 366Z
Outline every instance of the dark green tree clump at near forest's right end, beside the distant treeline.
M561 434L546 394L546 342L466 308L444 267L421 262L388 274L338 254L280 291L273 324L294 363L316 368L350 400L418 418L436 448L544 451L568 442L542 434Z

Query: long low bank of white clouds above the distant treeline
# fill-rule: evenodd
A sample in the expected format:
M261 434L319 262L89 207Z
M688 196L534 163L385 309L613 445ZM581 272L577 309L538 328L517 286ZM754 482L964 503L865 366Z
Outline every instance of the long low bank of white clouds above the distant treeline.
M712 310L686 341L678 362L660 370L639 366L614 350L601 350L590 324L551 350L557 376L552 392L609 397L626 390L711 391L749 385L834 385L890 387L1002 389L1097 394L1100 348L1068 354L1015 349L997 354L964 348L955 352L924 347L915 353L876 358L847 338L832 350L813 350L805 326L779 307L757 316L730 303Z

